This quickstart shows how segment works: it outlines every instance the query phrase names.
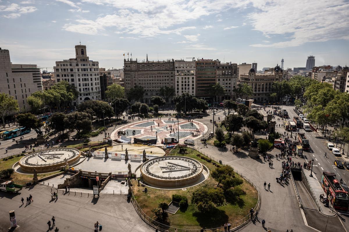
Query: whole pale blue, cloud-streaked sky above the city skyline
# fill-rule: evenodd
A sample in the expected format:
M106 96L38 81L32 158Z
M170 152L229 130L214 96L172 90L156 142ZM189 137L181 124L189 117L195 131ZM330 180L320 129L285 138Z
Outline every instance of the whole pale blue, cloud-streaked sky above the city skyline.
M99 67L138 60L219 59L263 67L349 65L348 0L0 0L0 47L12 63L75 57Z

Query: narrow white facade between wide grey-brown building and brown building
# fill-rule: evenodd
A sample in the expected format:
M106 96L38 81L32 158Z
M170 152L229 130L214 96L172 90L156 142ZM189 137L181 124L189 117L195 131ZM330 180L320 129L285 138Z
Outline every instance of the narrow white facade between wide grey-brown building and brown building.
M176 95L188 93L195 96L196 82L196 62L184 61L183 59L174 61L174 72L176 78Z

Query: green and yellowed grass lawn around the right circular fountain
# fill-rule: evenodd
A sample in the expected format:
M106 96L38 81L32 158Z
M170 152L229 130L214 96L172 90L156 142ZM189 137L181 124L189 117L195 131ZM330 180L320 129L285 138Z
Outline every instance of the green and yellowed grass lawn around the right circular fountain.
M177 154L178 149L173 149L170 155L182 155ZM188 154L184 154L186 157L199 160L205 165L210 172L213 171L216 166L212 162L207 162L201 158L198 158L196 154L201 154L193 149L187 149ZM214 162L214 161L213 161ZM183 190L158 190L148 188L148 192L144 193L142 190L144 187L137 186L137 181L133 180L133 193L135 198L142 208L142 210L149 216L152 216L151 209L157 208L161 202L170 203L172 200L172 194L184 195L188 198L189 206L185 211L178 210L176 214L169 214L170 226L183 228L183 229L200 229L203 228L215 228L223 226L224 223L230 221L234 223L245 217L250 209L257 204L258 193L254 187L247 181L244 181L242 188L245 190L246 195L242 195L240 200L231 205L226 203L223 206L217 207L212 214L202 214L198 211L196 205L191 204L192 192L201 188L214 188L217 182L209 176L209 178L200 185Z

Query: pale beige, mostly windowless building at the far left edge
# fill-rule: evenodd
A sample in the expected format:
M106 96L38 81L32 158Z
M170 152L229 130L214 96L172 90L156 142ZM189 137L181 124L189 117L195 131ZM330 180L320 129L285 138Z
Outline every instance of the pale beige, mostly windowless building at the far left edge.
M27 103L35 91L42 91L40 69L35 64L12 64L10 52L0 48L0 93L13 96L21 112L30 109Z

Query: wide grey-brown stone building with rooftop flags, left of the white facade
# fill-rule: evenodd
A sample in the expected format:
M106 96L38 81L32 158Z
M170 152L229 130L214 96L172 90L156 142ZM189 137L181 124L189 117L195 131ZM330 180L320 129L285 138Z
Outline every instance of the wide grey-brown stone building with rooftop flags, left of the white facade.
M161 87L175 88L174 60L138 62L137 59L124 59L125 93L135 85L144 88L141 102L150 104L153 96L160 96ZM169 99L171 101L172 99Z

